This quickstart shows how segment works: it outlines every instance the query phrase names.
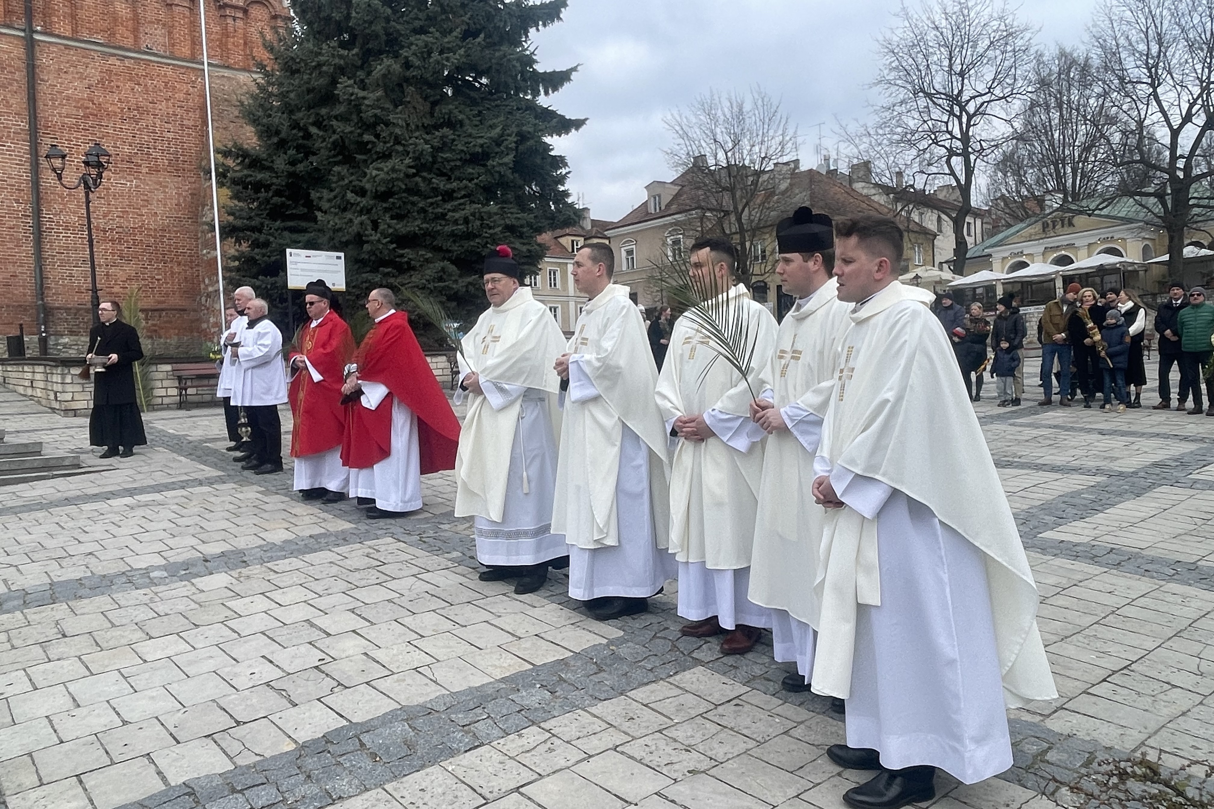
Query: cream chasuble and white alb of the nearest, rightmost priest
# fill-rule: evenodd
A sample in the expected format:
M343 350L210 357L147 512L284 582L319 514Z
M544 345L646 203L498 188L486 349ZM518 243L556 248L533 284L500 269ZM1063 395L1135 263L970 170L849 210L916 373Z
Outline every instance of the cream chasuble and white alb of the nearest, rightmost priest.
M827 513L812 685L847 698L847 743L966 783L1011 765L1005 706L1056 696L1038 594L930 293L894 283L850 315L815 460Z

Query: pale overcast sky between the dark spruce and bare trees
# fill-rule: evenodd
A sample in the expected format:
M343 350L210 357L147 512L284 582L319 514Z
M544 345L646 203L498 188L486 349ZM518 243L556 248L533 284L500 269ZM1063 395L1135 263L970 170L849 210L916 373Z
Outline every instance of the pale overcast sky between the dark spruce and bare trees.
M802 136L801 165L828 151L835 117L866 114L873 41L897 0L569 0L563 22L534 35L545 68L582 67L549 103L588 118L556 148L574 199L619 219L666 180L662 117L709 89L759 84ZM1026 0L1043 44L1079 44L1095 0Z

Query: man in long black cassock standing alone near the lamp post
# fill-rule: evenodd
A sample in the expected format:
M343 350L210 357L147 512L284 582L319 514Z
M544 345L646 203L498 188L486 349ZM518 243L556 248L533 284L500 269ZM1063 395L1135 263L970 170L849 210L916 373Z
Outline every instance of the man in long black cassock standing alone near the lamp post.
M143 347L135 327L118 319L121 313L118 301L102 301L97 307L101 323L89 332L89 358L108 358L103 368L93 368L89 419L89 443L106 447L102 458L130 458L136 446L148 442L135 396L134 364L143 358Z

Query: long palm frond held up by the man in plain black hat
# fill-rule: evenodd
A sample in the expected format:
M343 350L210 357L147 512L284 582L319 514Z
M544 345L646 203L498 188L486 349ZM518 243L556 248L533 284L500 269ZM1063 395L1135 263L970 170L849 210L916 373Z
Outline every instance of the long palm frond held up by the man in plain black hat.
M742 377L750 397L758 400L759 396L750 386L749 373L754 366L759 334L742 296L730 295L728 283L722 289L715 275L699 278L692 273L671 281L665 293L675 305L683 309L682 317L688 318L704 335L708 349L713 352L713 358L700 370L696 384L703 385L716 361L724 360Z

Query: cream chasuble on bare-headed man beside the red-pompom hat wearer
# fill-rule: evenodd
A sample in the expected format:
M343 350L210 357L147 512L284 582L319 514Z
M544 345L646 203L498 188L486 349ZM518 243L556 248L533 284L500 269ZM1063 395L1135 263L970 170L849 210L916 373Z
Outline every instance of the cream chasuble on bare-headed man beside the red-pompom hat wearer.
M566 347L597 396L565 402L552 532L583 549L619 545L617 510L635 508L615 497L625 425L648 447L654 542L666 547L666 431L653 400L658 370L628 294L628 287L608 284L586 304Z

